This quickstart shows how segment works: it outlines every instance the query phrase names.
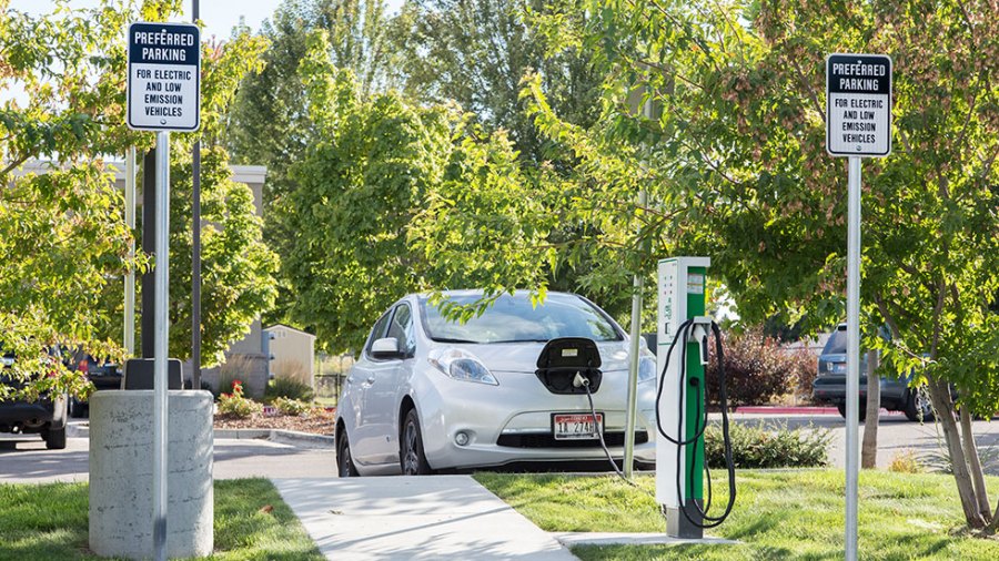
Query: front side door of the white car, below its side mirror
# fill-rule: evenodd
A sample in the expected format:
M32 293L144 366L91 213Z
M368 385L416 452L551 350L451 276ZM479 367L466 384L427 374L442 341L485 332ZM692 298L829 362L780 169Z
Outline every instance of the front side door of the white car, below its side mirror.
M375 450L371 460L377 463L394 463L398 462L400 392L403 390L403 381L408 377L408 370L413 367L415 351L413 309L408 304L395 306L385 337L394 337L398 341L402 357L385 359L377 369L372 370L367 389L370 415L364 421L371 426L373 434L381 436L374 445Z

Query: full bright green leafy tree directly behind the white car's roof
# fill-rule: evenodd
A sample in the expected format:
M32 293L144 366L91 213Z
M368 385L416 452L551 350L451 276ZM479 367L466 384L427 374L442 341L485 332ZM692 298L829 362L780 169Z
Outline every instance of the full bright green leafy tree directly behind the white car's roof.
M353 73L326 57L325 33L314 33L310 47L302 76L322 141L293 167L291 317L323 346L357 348L406 293L497 278L542 283L531 276L534 262L492 258L547 234L521 220L538 203L505 136L484 134L454 108L412 105L393 92L364 95ZM438 243L456 251L442 258Z

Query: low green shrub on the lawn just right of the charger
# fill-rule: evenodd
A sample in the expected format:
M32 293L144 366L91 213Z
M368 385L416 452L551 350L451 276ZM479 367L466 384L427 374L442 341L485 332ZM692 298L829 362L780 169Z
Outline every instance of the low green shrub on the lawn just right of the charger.
M767 428L733 422L729 426L731 458L737 469L818 468L828 465L831 434L825 429ZM725 467L722 426L712 424L704 432L704 453L712 469Z

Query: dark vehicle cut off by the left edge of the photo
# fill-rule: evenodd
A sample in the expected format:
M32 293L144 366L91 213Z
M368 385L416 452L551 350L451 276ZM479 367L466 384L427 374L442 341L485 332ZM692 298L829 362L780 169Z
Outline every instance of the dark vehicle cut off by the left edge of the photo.
M2 353L2 351L0 351ZM61 359L59 349L49 354ZM22 382L10 376L10 369L17 360L11 353L3 353L0 384L20 388ZM60 396L42 396L37 401L10 400L0 401L0 432L19 435L41 435L46 448L61 450L65 448L67 398Z

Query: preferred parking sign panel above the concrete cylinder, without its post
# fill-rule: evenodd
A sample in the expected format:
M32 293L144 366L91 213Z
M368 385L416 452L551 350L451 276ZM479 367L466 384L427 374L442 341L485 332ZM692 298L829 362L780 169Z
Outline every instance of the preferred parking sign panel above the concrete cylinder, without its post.
M196 131L201 125L198 26L129 26L128 124L143 131Z

